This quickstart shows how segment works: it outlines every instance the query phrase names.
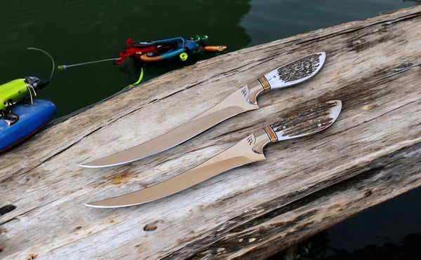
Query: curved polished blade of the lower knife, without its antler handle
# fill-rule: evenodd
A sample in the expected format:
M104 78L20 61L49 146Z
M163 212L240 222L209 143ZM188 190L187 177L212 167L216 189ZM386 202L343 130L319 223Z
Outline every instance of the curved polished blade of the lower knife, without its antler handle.
M165 182L123 196L85 205L89 207L127 207L171 196L234 167L265 160L265 156L259 151L262 151L263 146L268 142L270 142L269 136L264 131L260 135L250 135L205 163Z

